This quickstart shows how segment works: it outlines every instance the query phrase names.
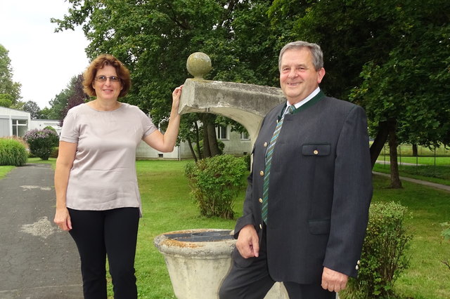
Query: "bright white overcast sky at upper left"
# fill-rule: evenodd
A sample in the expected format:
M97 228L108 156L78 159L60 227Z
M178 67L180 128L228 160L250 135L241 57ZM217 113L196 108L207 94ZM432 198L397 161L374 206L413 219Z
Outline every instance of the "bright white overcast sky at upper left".
M55 33L50 22L69 7L65 0L0 0L0 44L9 51L13 81L22 84L22 100L41 109L89 65L82 28Z

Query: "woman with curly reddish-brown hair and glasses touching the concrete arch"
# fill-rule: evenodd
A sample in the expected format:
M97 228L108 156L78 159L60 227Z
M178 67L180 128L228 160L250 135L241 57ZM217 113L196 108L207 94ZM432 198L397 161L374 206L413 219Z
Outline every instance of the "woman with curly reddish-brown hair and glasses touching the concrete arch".
M163 135L138 107L119 102L129 71L112 55L100 55L84 72L84 92L96 97L69 110L56 161L54 222L75 240L82 263L84 298L107 298L108 254L115 298L137 298L134 255L141 199L136 147L141 140L172 152L179 131L181 88L172 93Z

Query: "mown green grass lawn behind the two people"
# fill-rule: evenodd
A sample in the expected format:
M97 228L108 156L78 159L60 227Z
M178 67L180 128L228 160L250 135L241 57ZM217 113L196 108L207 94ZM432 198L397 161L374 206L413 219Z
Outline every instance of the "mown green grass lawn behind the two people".
M30 161L29 161L30 162ZM32 163L39 162L31 161ZM46 163L54 164L54 160ZM184 177L186 161L137 161L143 218L139 224L136 277L139 298L174 298L163 256L153 239L165 232L196 228L233 229L235 220L203 218L192 201ZM1 173L11 170L0 166ZM397 280L395 291L401 298L450 298L450 271L442 260L450 260L450 242L442 241L441 222L450 220L450 193L411 182L392 190L389 178L374 176L373 201L396 201L407 206L406 220L413 234L409 255L411 265ZM243 189L236 201L236 218L242 213ZM112 291L109 291L110 298Z

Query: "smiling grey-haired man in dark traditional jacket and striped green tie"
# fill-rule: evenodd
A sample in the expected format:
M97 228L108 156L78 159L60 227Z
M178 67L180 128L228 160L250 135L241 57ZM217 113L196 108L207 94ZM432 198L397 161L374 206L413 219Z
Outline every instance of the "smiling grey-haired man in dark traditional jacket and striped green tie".
M255 142L221 299L264 298L275 281L290 298L335 298L359 267L372 197L364 109L320 90L316 44L287 44L278 68L287 102L266 115Z

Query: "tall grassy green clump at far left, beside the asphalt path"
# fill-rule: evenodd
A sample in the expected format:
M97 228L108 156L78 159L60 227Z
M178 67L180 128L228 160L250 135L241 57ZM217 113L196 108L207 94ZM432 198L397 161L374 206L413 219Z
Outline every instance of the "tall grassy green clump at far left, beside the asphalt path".
M23 166L27 158L27 150L20 140L0 138L0 165Z

